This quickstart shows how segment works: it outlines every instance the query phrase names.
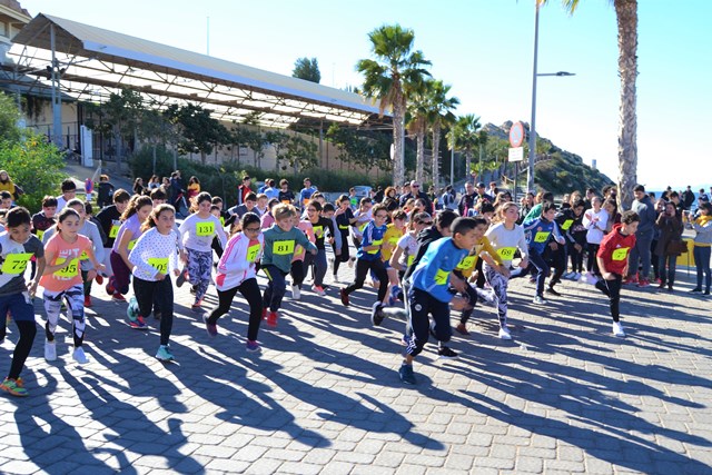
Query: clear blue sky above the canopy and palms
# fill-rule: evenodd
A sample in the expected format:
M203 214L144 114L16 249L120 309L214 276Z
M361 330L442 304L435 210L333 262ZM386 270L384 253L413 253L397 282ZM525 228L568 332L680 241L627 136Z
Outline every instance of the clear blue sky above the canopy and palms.
M453 86L457 113L483 123L531 120L534 0L23 0L31 14L70 20L290 75L316 57L322 83L360 83L367 33L398 22L415 30L431 72ZM120 4L120 6L119 6ZM639 181L650 189L711 185L712 1L639 1ZM540 13L536 129L617 178L619 78L612 1L582 0L573 17L550 0ZM702 171L702 172L701 172Z

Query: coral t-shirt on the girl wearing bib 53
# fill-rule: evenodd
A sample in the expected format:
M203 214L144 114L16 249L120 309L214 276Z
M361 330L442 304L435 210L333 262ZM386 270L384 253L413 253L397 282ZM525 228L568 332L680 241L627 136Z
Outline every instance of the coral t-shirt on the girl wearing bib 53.
M77 240L73 243L67 243L59 234L52 236L44 246L44 253L52 256L52 260L48 260L47 265L56 266L67 260L70 260L70 264L53 274L43 275L40 278L40 285L50 291L62 291L80 285L79 257L82 253L91 253L91 240L81 235L77 235Z

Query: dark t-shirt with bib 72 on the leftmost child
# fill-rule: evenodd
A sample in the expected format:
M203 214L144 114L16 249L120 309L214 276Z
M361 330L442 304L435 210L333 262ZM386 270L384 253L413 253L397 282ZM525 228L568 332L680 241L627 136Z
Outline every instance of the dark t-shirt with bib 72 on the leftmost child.
M32 256L44 257L44 247L37 236L20 244L10 239L9 232L0 232L0 296L27 290L24 269Z

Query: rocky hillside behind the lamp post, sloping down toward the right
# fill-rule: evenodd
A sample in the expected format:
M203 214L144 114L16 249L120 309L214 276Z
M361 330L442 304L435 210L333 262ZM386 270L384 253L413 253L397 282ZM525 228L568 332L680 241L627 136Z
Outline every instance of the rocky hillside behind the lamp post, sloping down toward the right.
M487 123L484 129L491 137L507 140L512 121L506 121L502 126ZM528 130L528 123L524 122L524 128ZM567 150L563 150L552 144L551 140L540 136L536 137L537 157L534 164L534 172L537 188L552 191L554 195L563 195L572 190L584 191L589 187L602 189L614 181L601 171L591 168L583 162L581 156ZM528 151L528 147L525 152ZM520 179L526 180L526 167Z

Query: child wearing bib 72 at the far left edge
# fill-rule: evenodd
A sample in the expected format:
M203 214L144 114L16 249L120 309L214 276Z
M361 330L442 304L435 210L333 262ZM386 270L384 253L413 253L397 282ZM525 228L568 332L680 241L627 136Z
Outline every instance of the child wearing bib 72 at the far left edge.
M32 299L37 293L38 279L24 281L27 263L34 258L37 275L44 273L44 248L42 243L30 234L30 212L17 207L7 215L7 230L0 234L0 315L12 314L20 338L12 353L10 372L0 384L0 389L12 396L27 396L27 389L20 373L32 349L37 326ZM0 318L0 343L6 336L4 318Z

